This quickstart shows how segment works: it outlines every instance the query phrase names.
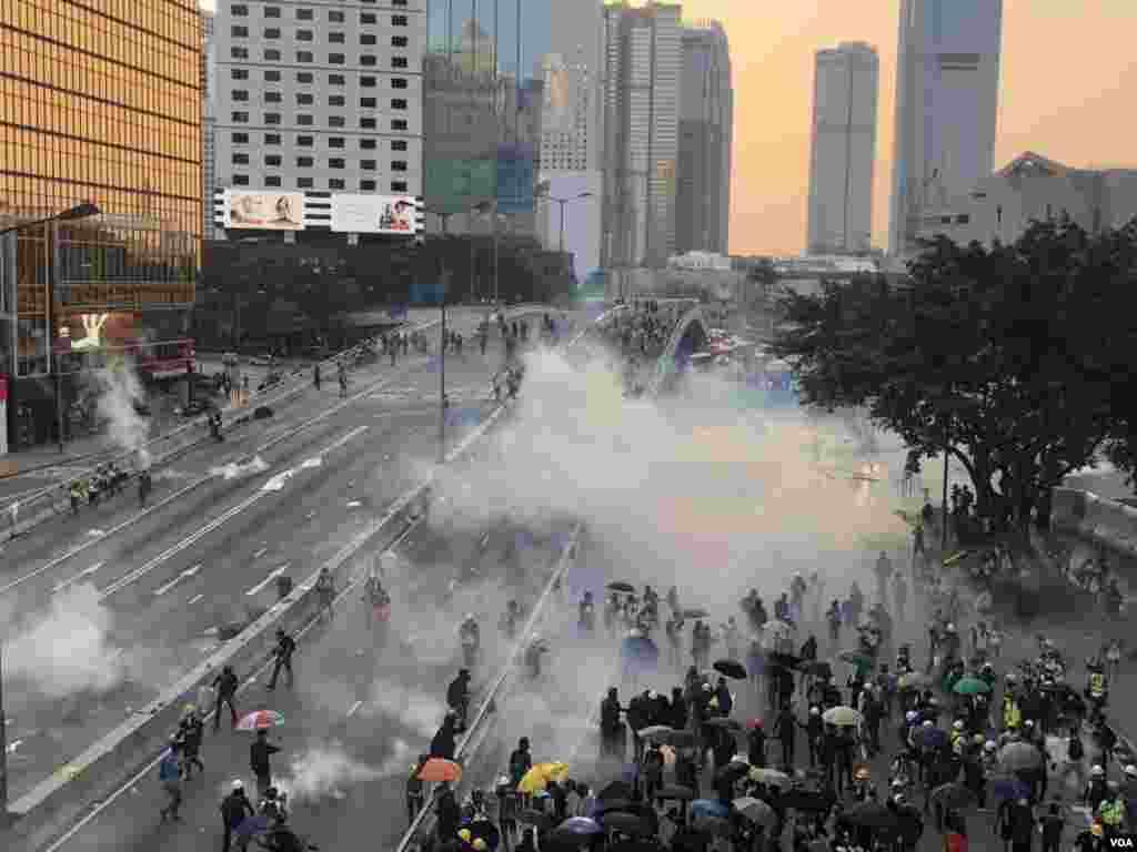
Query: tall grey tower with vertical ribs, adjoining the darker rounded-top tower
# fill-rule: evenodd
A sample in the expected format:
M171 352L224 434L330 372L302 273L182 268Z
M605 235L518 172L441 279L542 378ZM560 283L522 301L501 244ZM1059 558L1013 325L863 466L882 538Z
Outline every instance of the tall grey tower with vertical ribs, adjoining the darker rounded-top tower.
M604 9L601 266L662 268L675 253L682 8Z

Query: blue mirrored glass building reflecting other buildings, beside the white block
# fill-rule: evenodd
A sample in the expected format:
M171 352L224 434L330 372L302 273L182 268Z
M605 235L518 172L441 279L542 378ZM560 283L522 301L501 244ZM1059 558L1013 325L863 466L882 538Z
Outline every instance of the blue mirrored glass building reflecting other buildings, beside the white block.
M462 211L496 201L532 228L540 150L542 65L556 0L432 0L424 62L424 197ZM428 217L438 229L438 219Z

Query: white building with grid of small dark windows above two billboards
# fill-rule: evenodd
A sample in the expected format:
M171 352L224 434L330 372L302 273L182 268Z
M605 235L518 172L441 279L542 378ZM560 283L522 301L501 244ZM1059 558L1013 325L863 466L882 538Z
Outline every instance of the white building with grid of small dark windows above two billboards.
M426 0L218 0L215 27L218 222L401 232L423 186Z

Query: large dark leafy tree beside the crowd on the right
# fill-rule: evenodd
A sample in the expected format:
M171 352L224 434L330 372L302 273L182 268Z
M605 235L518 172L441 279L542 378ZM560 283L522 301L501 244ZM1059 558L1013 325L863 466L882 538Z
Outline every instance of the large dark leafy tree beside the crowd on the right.
M980 517L1049 521L1051 488L1103 454L1137 467L1137 219L1035 223L1013 245L926 243L903 281L785 294L775 353L803 401L863 406L968 470Z

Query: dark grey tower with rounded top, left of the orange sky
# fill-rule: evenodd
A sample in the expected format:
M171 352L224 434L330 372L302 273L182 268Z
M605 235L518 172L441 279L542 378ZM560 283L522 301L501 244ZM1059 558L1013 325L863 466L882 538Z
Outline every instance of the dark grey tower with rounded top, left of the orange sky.
M735 90L730 45L716 20L683 30L675 251L727 254Z

